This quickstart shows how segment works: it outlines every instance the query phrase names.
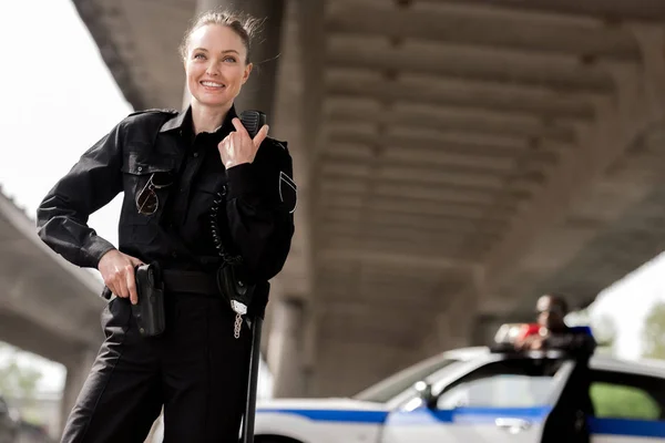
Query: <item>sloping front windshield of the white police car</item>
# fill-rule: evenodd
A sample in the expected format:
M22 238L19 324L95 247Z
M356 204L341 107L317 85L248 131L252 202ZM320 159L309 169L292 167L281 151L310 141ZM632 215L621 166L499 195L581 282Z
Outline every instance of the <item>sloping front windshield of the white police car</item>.
M459 360L441 357L426 360L367 388L365 391L354 395L354 399L375 403L387 403L411 388L416 382L426 379L428 375L457 361Z

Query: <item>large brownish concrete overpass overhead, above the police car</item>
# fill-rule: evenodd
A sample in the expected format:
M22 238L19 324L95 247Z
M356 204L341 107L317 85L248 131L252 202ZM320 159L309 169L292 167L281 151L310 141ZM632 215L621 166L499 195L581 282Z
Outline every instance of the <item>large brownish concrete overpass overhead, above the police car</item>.
M142 109L180 107L177 43L197 8L223 2L74 3ZM269 13L270 39L238 105L268 111L300 186L266 324L278 395L352 393L531 317L543 290L586 305L663 250L665 3L241 7ZM12 257L22 243L2 248ZM45 276L60 266L51 261L40 260ZM75 285L61 293L96 309ZM20 293L40 301L40 290ZM9 300L12 318L28 315L28 301ZM99 318L89 316L73 324Z

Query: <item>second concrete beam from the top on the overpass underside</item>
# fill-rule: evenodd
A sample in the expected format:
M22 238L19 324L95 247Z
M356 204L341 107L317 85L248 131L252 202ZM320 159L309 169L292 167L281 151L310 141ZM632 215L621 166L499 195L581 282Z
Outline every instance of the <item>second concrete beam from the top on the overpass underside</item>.
M489 78L377 71L369 65L364 69L330 66L325 79L329 96L408 101L471 111L523 112L546 119L592 120L593 103L607 95L606 92L573 91L562 86Z

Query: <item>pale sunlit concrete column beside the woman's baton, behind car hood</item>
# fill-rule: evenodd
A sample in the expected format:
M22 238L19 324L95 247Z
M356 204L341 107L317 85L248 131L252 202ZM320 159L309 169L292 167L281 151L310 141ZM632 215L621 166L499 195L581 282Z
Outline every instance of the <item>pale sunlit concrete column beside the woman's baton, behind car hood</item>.
M284 299L275 305L268 367L273 372L273 395L299 396L304 393L304 303Z

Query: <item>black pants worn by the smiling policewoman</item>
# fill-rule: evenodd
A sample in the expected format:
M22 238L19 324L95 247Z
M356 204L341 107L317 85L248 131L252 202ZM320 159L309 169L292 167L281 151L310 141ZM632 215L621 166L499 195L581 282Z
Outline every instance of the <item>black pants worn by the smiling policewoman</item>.
M106 336L66 422L65 443L142 443L164 405L164 442L237 442L250 331L233 337L221 299L166 295L166 329L142 338L129 299L102 313Z

